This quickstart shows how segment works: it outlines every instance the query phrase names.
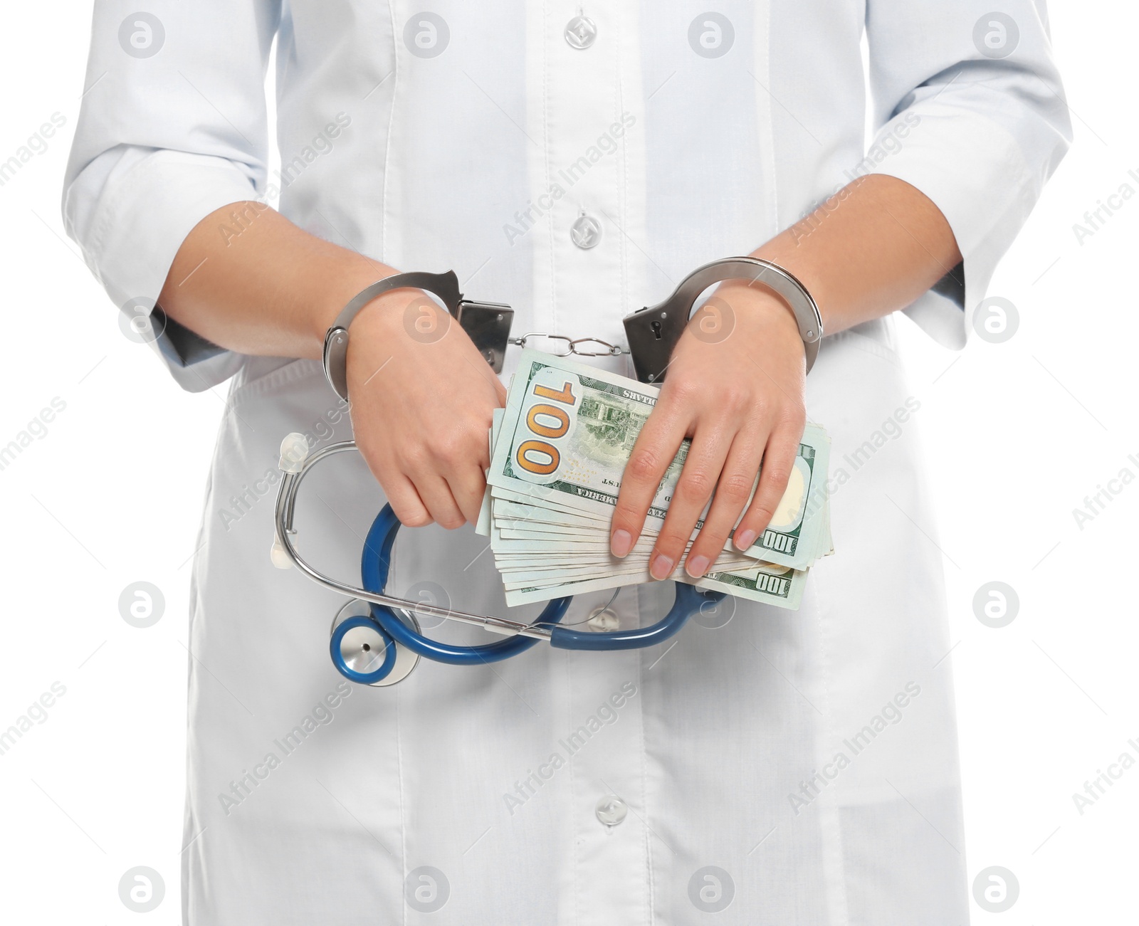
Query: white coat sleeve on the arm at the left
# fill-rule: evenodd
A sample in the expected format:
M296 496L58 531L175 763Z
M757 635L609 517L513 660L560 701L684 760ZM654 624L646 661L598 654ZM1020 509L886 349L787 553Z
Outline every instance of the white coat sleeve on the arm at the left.
M179 246L203 218L264 197L264 77L279 22L274 0L146 9L138 13L137 0L95 2L63 195L67 233L123 311L154 304ZM161 310L151 322L156 337L145 339L191 392L223 382L244 360Z

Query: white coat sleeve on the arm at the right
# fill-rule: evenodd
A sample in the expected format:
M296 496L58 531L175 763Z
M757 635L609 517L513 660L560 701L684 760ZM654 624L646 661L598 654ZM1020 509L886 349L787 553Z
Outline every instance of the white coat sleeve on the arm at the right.
M1043 0L868 0L877 132L859 173L929 197L964 257L906 313L947 347L973 313L1072 138Z

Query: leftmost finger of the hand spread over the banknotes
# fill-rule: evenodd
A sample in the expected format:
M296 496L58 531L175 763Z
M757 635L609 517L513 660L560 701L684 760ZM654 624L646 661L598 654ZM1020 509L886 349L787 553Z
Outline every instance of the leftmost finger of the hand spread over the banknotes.
M658 403L637 435L637 443L621 476L621 491L613 509L609 549L624 557L640 536L657 486L685 440L688 421L679 410Z

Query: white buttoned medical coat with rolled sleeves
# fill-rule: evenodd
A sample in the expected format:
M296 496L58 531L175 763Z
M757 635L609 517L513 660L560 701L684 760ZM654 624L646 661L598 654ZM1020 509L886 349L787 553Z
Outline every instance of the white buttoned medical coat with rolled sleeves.
M64 214L114 302L156 297L204 215L272 185L316 235L453 268L470 296L514 305L516 333L621 343L623 314L874 171L948 218L964 287L908 312L961 346L1066 146L1029 0L1003 5L1005 58L974 40L990 0L723 2L720 19L607 0L582 10L581 49L564 34L577 2L421 6L149 2L164 35L144 57L120 41L137 0L97 0ZM1000 28L1011 41L981 34ZM274 34L286 179L267 177ZM582 213L601 232L589 249L571 237ZM749 926L966 923L942 566L893 323L828 337L808 379L834 441L837 552L800 612L737 601L726 625L650 650L541 645L423 663L391 689L336 674L342 599L270 565L280 439L351 436L318 364L169 326L156 346L182 386L236 374L194 569L186 923L685 924L719 908ZM355 580L383 495L359 459L326 466L298 505L301 548ZM405 530L390 588L505 613L483 547L469 528ZM626 589L614 608L644 623L670 596ZM607 795L628 809L615 826L595 810Z

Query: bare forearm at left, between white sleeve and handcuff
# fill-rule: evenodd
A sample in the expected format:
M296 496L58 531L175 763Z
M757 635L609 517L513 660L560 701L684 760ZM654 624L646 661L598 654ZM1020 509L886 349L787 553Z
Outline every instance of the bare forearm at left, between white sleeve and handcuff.
M235 212L240 224L231 219ZM302 231L263 204L233 203L186 237L158 304L222 347L317 359L325 331L349 300L394 272Z

